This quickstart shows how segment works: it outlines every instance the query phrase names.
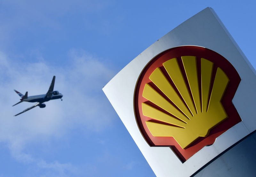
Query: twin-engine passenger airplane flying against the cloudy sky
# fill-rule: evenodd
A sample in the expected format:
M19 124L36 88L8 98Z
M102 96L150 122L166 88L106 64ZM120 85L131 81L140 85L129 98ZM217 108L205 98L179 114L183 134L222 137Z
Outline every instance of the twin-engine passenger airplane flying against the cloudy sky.
M17 90L14 90L20 97L20 102L16 103L15 105L23 102L23 101L28 101L28 102L37 102L34 106L32 107L29 107L27 109L25 109L24 111L20 112L19 114L22 114L36 106L39 106L40 108L43 108L45 107L46 105L43 104L44 102L46 101L49 101L49 100L55 100L55 99L60 99L62 101L62 97L63 95L58 92L58 91L53 91L53 87L54 87L54 82L55 82L55 76L53 76L52 78L52 83L50 85L50 88L48 90L48 92L46 94L43 94L43 95L35 95L35 96L29 96L28 97L28 92L25 93L25 95L21 94L20 92L18 92ZM15 106L13 105L13 106ZM14 116L17 116L19 114L16 114Z

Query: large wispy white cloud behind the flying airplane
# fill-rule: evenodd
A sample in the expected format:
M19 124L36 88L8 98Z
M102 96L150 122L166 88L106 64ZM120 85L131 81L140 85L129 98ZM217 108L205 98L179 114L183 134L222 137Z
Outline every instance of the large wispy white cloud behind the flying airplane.
M12 156L22 163L53 170L53 176L64 176L65 170L76 171L71 164L46 163L23 150L29 143L47 142L64 136L74 127L100 131L111 125L112 116L102 87L114 76L106 64L72 50L69 65L58 68L51 63L19 63L0 53L0 142L8 144ZM45 102L45 108L35 107L16 117L35 103L23 102L12 107L20 97L13 91L28 91L28 96L47 92L52 76L56 75L54 90L63 94L63 101ZM112 112L113 113L113 112ZM112 114L113 115L113 114ZM72 172L73 173L73 172ZM48 174L48 176L51 176Z

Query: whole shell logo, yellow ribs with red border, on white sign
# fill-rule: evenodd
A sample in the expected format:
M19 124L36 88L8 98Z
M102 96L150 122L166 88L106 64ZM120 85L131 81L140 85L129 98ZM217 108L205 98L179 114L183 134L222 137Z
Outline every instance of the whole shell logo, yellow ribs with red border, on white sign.
M170 146L185 162L241 118L232 99L241 79L220 54L181 46L152 59L134 94L138 126L150 146Z

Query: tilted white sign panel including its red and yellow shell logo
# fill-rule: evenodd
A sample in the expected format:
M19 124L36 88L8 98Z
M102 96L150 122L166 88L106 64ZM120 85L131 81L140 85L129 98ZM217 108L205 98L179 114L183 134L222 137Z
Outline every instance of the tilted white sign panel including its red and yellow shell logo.
M156 176L190 176L256 129L255 73L216 13L206 8L133 59L103 91ZM166 85L169 89L164 90ZM169 102L165 104L163 98ZM214 121L189 124L204 109ZM190 133L183 135L188 125ZM201 128L206 132L200 134ZM181 133L177 135L176 129Z

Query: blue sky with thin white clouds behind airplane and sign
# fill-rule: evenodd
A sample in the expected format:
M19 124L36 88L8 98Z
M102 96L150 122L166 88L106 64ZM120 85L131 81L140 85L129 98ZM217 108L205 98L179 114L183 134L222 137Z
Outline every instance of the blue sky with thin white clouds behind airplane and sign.
M0 0L0 176L154 176L102 87L164 34L212 7L256 67L254 1ZM12 107L47 92L63 101Z

